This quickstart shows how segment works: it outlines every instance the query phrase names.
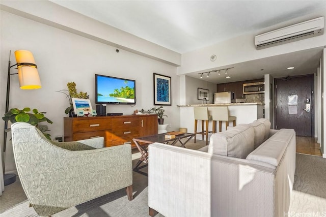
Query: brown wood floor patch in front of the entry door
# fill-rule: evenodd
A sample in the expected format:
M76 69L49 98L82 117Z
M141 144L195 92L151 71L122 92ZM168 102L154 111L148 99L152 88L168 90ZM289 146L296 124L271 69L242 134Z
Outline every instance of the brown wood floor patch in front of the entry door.
M296 152L321 156L320 145L313 137L296 136Z

